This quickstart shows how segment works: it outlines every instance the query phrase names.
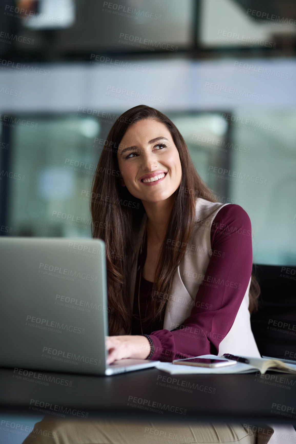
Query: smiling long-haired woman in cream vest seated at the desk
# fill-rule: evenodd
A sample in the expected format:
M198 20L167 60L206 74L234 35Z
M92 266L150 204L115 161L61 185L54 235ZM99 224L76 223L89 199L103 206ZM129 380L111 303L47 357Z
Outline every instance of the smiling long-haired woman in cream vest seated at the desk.
M91 196L92 237L106 244L108 363L224 351L260 356L248 310L258 297L250 219L241 206L211 197L170 119L144 105L123 113L107 137ZM55 431L59 443L146 443L147 427L174 443L257 443L242 424L49 418L35 427ZM34 432L24 441L31 442Z

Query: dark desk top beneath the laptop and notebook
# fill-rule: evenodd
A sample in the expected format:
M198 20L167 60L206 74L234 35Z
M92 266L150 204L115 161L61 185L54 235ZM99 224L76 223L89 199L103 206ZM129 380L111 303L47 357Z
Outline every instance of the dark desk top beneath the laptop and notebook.
M45 381L38 379L38 373L46 375L48 385L42 385ZM66 413L88 418L296 424L296 375L285 373L262 378L256 373L186 376L146 369L108 377L50 372L26 376L29 381L23 377L13 369L0 369L1 413L45 415L48 403L47 411L56 418ZM64 385L52 379L57 377L65 380Z

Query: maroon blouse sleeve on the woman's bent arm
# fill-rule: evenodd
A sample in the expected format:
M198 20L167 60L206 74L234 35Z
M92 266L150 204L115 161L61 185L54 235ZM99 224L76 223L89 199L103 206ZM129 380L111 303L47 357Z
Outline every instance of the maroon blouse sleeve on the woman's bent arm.
M174 359L217 355L219 344L233 325L252 273L252 228L239 205L225 205L212 223L212 254L197 291L190 316L181 328L149 334L154 343L150 359Z

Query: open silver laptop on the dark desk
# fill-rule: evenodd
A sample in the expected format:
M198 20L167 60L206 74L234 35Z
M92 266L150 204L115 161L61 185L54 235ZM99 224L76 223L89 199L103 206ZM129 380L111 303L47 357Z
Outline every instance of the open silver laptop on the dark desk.
M114 375L159 361L108 365L105 243L0 237L0 365Z

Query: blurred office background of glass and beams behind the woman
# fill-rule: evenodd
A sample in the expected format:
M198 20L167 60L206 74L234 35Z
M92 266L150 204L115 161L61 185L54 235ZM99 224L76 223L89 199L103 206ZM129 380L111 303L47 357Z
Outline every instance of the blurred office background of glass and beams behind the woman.
M144 103L247 211L253 262L295 265L295 49L291 0L0 0L0 235L90 237L104 140Z

